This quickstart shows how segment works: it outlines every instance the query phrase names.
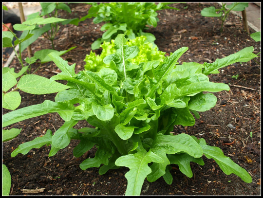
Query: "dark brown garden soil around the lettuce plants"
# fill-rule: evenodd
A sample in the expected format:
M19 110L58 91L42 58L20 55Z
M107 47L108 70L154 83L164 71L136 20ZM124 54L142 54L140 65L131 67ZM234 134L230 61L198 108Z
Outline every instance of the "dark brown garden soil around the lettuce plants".
M227 22L236 25L224 27L220 35L220 20L218 18L205 18L200 15L203 8L213 3L187 3L174 4L177 10L158 11L160 22L156 28L150 28L148 32L156 36L155 43L159 50L174 52L187 46L189 50L179 62L213 62L216 58L223 58L245 47L254 46L255 54L261 51L261 43L255 42L243 30L242 19L232 14ZM83 17L87 14L90 5L69 4L74 10L67 15L65 11L59 12L61 18ZM188 8L186 8L188 6ZM185 9L186 8L186 9ZM92 18L79 23L79 26L66 25L60 28L55 40L56 50L66 50L77 46L75 50L64 54L62 57L70 63L76 63L76 71L84 69L85 55L90 53L91 44L101 37L102 23L93 24ZM185 33L180 33L181 30ZM255 32L250 29L250 33ZM38 39L32 45L34 52L41 49L51 49L51 42L46 39ZM96 50L97 54L101 50ZM26 50L23 53L25 58ZM8 57L4 57L8 58ZM260 62L260 57L255 58ZM4 59L4 62L6 59ZM20 70L18 60L15 58L10 67ZM39 67L36 63L33 70ZM220 70L219 74L209 75L212 82L223 82L230 86L231 91L215 93L218 97L217 105L207 112L200 112L201 118L196 120L194 126L175 126L174 133L187 133L197 138L204 138L209 145L220 147L226 156L242 166L252 177L252 183L244 183L239 177L225 173L212 159L203 157L205 165L199 166L192 163L194 177L188 178L173 165L171 170L173 182L168 185L163 178L155 182L145 183L141 195L261 195L261 67L254 60L247 63L235 63ZM53 62L43 64L35 73L50 78L60 72ZM237 79L233 75L239 74ZM54 94L32 95L19 91L22 102L19 108L40 104L44 100L54 101ZM3 109L3 114L9 110ZM232 124L236 129L227 127ZM3 163L10 170L12 177L12 189L10 195L30 195L22 192L22 189L45 188L44 192L34 195L124 195L127 180L124 177L128 168L109 170L105 175L98 174L98 168L81 170L79 164L86 158L93 158L95 148L85 153L80 158L73 156L73 148L78 144L73 140L63 150L59 150L54 157L48 157L50 146L32 149L28 154L19 154L10 157L11 152L19 144L32 141L36 137L44 135L47 129L53 132L62 126L63 120L57 113L46 114L13 124L4 129L22 128L21 133L15 139L3 143ZM80 121L75 128L89 126L87 122ZM253 139L250 138L253 132ZM234 143L233 143L234 141ZM225 143L233 143L226 145Z

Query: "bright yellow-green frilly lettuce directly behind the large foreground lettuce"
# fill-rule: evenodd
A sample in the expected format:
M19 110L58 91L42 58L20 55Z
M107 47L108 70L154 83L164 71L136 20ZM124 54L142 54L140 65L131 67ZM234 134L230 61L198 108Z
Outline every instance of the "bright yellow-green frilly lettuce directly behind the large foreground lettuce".
M152 43L147 42L146 36L139 36L134 39L130 39L126 42L126 45L129 47L137 46L140 52L134 58L130 59L132 64L139 65L142 62L148 62L153 60L158 60L163 62L165 58L165 52L158 51L157 47L153 47ZM100 45L102 47L102 52L100 55L96 55L94 52L86 55L84 68L86 70L92 72L99 72L102 68L110 68L110 63L104 63L103 59L110 54L114 54L116 52L114 48L114 40L111 42L104 41L103 44ZM157 62L156 62L157 63Z

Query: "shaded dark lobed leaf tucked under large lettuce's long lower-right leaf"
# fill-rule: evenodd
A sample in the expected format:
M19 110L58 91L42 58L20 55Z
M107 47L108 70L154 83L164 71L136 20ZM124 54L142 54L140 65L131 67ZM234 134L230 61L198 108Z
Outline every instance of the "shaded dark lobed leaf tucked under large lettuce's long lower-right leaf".
M179 165L180 171L185 174L188 178L193 177L193 173L190 167L190 162L196 162L199 165L204 165L205 162L202 158L194 158L187 153L168 155L170 164Z

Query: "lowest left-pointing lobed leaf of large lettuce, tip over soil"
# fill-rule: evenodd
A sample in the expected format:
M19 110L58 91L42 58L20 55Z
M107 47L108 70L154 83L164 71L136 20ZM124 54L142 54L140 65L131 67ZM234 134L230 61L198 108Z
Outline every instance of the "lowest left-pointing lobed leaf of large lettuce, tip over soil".
M14 112L14 111L13 111ZM32 148L40 148L45 144L50 144L52 138L52 131L47 130L46 134L43 137L35 138L34 140L20 144L12 153L11 157L17 156L19 153L23 155L27 154Z

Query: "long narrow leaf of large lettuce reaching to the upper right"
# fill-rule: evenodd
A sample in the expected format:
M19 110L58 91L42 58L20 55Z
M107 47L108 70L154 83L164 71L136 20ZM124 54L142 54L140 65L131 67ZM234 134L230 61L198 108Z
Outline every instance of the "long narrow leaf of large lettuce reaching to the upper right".
M225 58L216 59L213 63L204 63L203 73L205 75L210 74L211 72L217 71L220 68L226 67L236 62L247 62L253 58L257 57L256 54L246 53L244 51L237 52L235 54L231 54L226 56Z

